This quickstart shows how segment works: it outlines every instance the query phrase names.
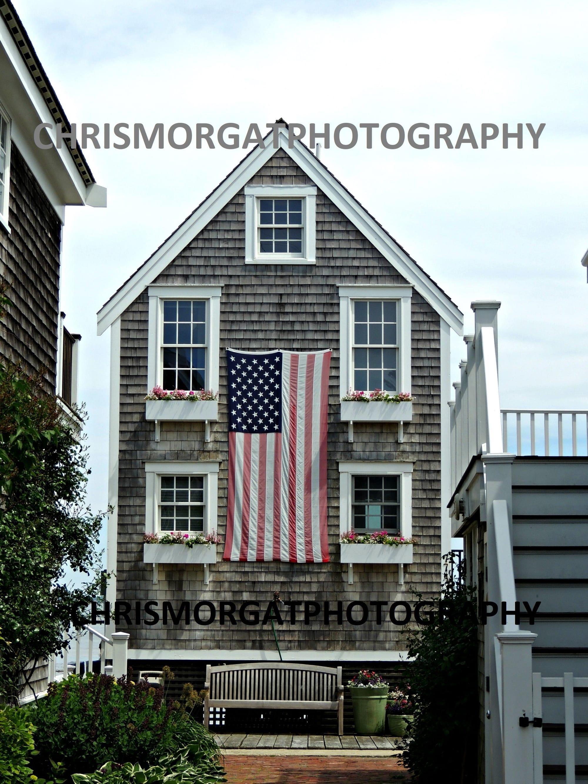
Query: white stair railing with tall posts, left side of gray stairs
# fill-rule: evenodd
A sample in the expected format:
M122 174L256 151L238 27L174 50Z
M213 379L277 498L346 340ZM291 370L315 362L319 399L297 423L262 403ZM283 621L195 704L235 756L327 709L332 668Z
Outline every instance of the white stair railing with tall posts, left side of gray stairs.
M466 480L473 458L481 456L486 510L488 582L483 600L496 612L485 626L486 781L492 784L532 784L532 732L521 724L532 710L532 642L536 635L521 630L514 615L503 618L504 606L516 607L514 560L510 534L512 456L503 442L500 409L497 312L499 303L472 303L473 336L466 336L467 359L460 362L452 405L452 491ZM458 505L459 506L459 505Z

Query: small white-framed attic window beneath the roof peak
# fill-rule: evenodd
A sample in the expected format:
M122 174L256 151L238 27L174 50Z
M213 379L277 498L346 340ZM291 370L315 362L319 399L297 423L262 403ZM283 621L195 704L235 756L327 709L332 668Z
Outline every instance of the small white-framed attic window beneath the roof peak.
M314 264L314 185L245 186L245 262Z

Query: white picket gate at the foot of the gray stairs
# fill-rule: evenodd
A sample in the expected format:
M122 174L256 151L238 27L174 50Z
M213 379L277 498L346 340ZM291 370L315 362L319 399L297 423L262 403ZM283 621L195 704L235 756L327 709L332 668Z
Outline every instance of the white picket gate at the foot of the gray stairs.
M574 689L588 688L588 678L575 678L574 673L564 673L563 678L544 678L541 673L533 673L533 784L543 784L544 688L564 690L565 784L575 784Z

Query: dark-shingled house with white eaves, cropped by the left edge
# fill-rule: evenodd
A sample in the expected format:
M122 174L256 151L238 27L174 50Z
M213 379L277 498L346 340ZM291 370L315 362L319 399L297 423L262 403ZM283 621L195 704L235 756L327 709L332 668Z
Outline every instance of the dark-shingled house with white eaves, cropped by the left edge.
M71 125L9 0L0 0L0 16L0 281L12 303L0 321L0 360L41 373L69 412L80 336L60 309L65 207L106 206L106 191L69 140L60 149L34 143L41 123L53 125L47 144L57 125L64 134Z

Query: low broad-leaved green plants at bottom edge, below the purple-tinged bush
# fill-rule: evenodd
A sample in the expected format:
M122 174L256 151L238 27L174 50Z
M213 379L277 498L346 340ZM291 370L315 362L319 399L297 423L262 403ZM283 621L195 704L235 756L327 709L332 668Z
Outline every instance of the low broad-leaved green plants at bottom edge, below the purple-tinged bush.
M74 784L220 784L227 781L220 764L210 760L198 744L162 757L151 768L143 769L131 762L123 765L107 762L100 771L78 773L71 778Z

